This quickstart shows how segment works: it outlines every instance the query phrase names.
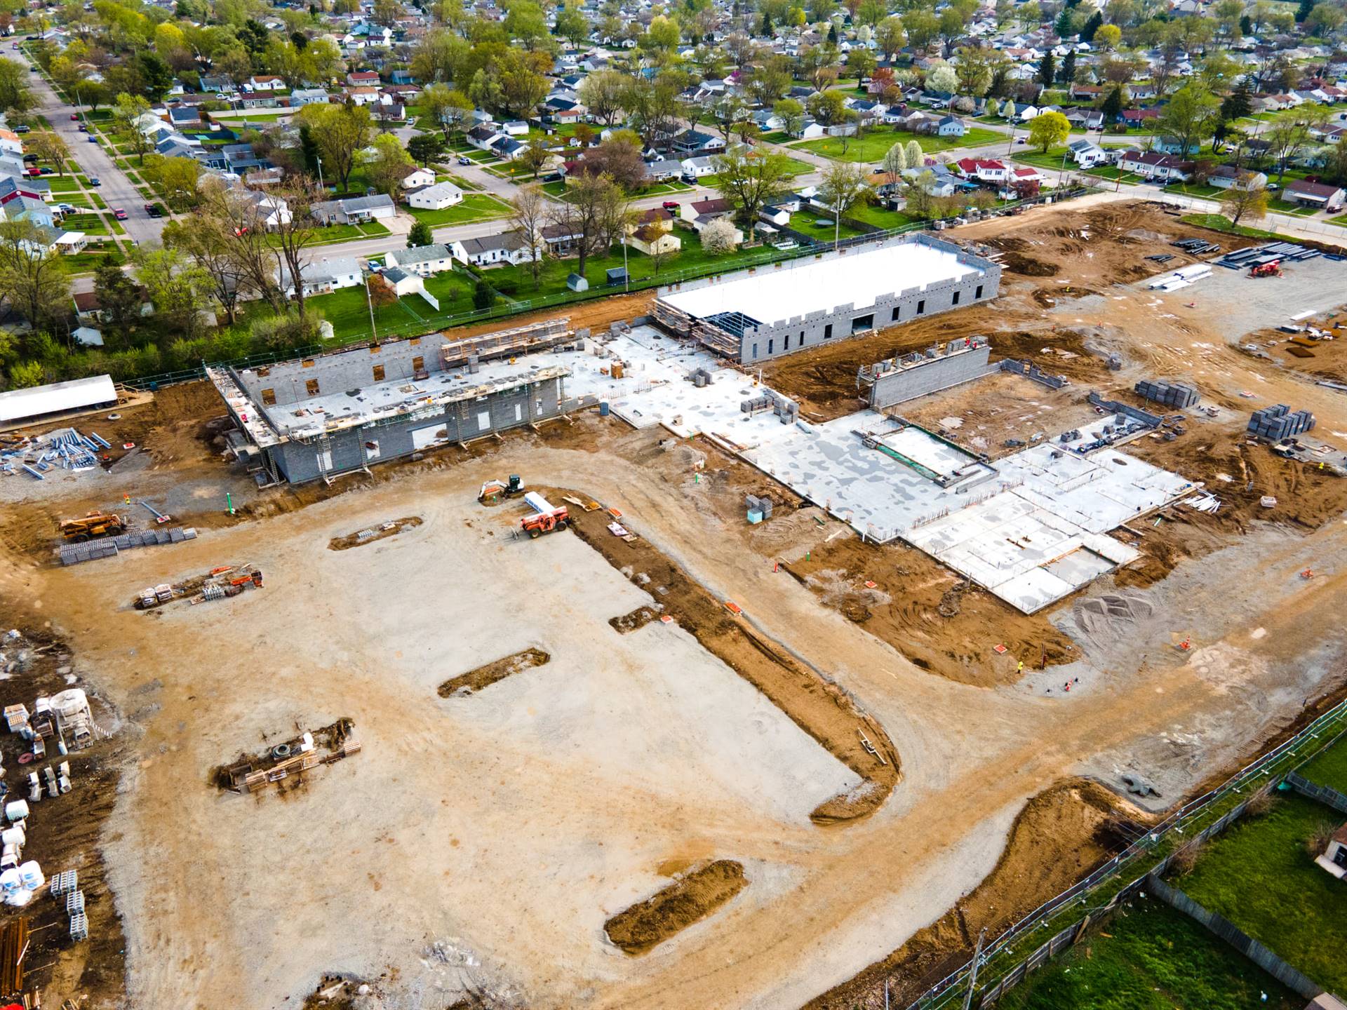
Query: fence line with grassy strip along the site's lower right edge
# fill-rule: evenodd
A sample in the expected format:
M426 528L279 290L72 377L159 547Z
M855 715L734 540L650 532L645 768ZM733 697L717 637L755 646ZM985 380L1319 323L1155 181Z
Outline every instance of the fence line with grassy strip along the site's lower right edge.
M1243 815L1255 793L1282 781L1344 734L1347 700L1222 785L1184 804L1088 877L1030 912L982 948L977 970L970 960L927 988L908 1010L960 1005L970 980L975 987L973 1006L993 1006L1030 971L1079 941L1092 920L1145 890L1148 878L1165 873L1177 852L1224 831ZM1026 947L1029 953L1021 955Z

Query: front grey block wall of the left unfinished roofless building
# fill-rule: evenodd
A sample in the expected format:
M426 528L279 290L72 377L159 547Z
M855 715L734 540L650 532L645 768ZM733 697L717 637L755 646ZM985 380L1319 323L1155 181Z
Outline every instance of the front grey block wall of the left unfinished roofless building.
M435 446L469 442L482 435L517 428L560 413L560 378L548 378L475 400L447 404L418 417L346 428L329 438L291 439L265 450L280 475L291 483L315 481L399 459Z

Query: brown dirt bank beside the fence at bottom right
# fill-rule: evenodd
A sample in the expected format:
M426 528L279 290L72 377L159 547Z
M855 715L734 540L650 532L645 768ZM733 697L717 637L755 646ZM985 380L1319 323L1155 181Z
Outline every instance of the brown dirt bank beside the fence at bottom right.
M907 1006L973 955L987 939L1071 886L1136 834L1144 815L1100 785L1075 780L1034 796L1016 819L995 869L936 922L882 962L824 992L806 1010L880 1010L884 980L893 1006Z

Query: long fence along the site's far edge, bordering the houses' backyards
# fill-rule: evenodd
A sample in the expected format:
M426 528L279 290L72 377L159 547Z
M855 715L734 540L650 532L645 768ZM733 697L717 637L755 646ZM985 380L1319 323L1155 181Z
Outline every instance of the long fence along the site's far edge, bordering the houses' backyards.
M1044 193L1037 197L1030 197L1022 201L1013 201L997 207L993 213L1001 214L1017 214L1032 206L1043 203L1053 203L1064 199L1075 199L1078 197L1084 197L1091 193L1098 193L1096 189L1091 187L1075 187L1063 191ZM853 238L843 238L838 242L838 248L846 249L857 245L865 245L867 242L882 241L885 238L893 238L896 236L911 234L913 232L932 230L936 229L933 221L917 221L911 225L904 225L901 228L893 228L886 232L874 232L872 234L861 234ZM940 222L943 228L943 222ZM533 312L544 308L555 308L558 306L570 306L577 302L587 302L597 298L607 298L610 295L622 294L628 291L644 291L648 288L663 287L665 284L680 284L688 280L700 280L702 277L717 276L721 273L731 273L742 269L749 269L750 267L761 267L772 263L784 263L787 260L803 259L806 256L818 256L826 249L832 248L832 242L820 245L808 245L799 249L777 249L775 246L762 246L754 249L741 256L734 257L733 261L725 265L719 264L703 264L700 267L691 267L683 271L663 271L655 277L641 277L638 280L632 280L621 287L618 285L601 285L590 288L589 291L558 291L551 295L541 295L539 298L531 299L506 299L498 304L489 308L475 308L469 312L458 312L449 316L435 316L432 319L409 319L404 325L397 326L380 326L379 338L392 339L395 337L424 337L428 333L436 333L440 330L451 330L457 326L470 326L473 323L488 322L490 319L500 319L508 315L520 315L523 312ZM352 343L358 343L358 341L352 341ZM175 385L178 382L195 382L206 377L206 365L224 366L228 365L234 370L241 368L255 368L257 365L269 365L277 361L290 361L294 358L311 357L313 354L321 354L329 350L337 350L345 347L346 345L313 345L308 347L299 347L295 350L284 351L267 351L261 354L251 354L245 358L233 358L229 361L211 361L201 362L193 368L179 369L176 372L163 372L154 376L143 376L140 378L125 378L121 381L128 389L135 389L137 392L152 392L166 385Z

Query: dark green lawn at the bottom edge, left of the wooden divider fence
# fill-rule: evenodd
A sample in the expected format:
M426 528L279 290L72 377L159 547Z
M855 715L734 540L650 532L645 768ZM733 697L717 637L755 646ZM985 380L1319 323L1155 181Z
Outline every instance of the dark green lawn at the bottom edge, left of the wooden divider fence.
M1261 995L1268 994L1268 1002ZM1162 901L1133 900L998 1010L1300 1010L1305 1001Z

